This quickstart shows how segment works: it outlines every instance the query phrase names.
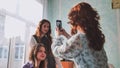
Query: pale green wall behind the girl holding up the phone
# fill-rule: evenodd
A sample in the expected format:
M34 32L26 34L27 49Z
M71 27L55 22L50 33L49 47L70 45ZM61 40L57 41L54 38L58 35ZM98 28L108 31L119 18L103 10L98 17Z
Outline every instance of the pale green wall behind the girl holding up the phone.
M120 67L120 51L119 51L119 23L117 21L117 15L120 15L120 11L116 13L116 9L112 9L111 0L48 0L48 19L52 23L52 35L54 36L55 21L61 19L63 27L69 32L67 26L67 14L72 6L79 2L88 2L93 6L100 14L100 24L102 31L105 34L105 50L108 56L108 62L113 64L115 68Z

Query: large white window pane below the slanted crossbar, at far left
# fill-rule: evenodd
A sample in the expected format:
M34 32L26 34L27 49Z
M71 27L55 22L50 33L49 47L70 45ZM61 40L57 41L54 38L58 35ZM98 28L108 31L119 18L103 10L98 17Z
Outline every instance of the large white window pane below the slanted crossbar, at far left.
M25 36L25 22L13 18L10 16L6 16L5 21L5 37L11 38L20 36L22 40L24 40Z

